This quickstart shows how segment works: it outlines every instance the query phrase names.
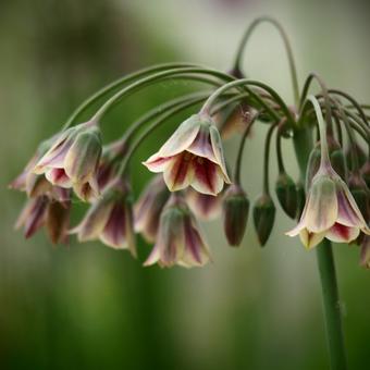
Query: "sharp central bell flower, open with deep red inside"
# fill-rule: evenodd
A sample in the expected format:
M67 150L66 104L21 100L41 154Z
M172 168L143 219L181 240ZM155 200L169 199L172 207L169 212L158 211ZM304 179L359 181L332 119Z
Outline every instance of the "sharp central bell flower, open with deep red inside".
M193 186L202 194L219 194L230 184L221 137L210 118L192 115L144 164L163 172L171 192Z

